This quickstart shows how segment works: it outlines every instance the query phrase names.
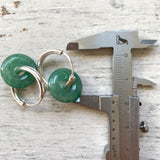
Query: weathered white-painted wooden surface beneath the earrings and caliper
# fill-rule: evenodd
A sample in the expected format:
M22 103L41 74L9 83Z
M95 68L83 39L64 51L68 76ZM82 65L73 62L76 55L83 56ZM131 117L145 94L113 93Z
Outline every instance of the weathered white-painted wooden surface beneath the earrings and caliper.
M159 0L13 0L0 1L0 63L13 53L37 60L48 49L106 30L136 29L141 38L160 44ZM83 83L83 94L112 93L111 51L69 52ZM47 76L69 67L62 56L46 60ZM140 134L140 160L160 157L160 50L133 51L133 75L157 85L140 88L140 120L150 131ZM36 87L35 87L36 88ZM30 101L38 90L23 92ZM19 106L0 78L0 160L104 160L109 142L108 116L76 104L55 101L47 91L32 108Z

